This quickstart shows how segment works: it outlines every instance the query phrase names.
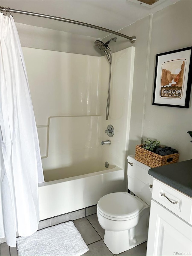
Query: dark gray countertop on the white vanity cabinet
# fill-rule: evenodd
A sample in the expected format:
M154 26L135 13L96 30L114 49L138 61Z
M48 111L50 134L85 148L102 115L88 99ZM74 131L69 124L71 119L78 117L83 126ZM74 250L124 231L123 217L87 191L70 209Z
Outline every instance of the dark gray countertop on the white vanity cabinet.
M149 169L154 178L192 197L192 159Z

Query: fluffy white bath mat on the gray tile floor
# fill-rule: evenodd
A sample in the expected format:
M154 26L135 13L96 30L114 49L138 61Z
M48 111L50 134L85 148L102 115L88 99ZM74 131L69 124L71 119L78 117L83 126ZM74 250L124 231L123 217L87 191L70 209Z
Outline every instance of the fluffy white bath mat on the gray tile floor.
M41 229L17 238L19 256L82 255L89 250L73 221Z

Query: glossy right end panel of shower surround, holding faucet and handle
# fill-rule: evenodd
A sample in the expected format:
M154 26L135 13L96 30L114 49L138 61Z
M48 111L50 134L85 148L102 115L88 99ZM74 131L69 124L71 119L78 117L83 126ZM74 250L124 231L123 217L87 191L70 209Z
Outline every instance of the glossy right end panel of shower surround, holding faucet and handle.
M101 115L100 141L111 140L111 145L105 148L104 155L110 164L121 168L126 166L128 156L129 128L131 121L131 102L133 89L135 47L112 53L111 97L109 119L105 119L107 92L109 84L109 63L105 56L101 57L99 110ZM105 133L107 125L113 125L115 133L109 138ZM126 168L125 168L126 169Z

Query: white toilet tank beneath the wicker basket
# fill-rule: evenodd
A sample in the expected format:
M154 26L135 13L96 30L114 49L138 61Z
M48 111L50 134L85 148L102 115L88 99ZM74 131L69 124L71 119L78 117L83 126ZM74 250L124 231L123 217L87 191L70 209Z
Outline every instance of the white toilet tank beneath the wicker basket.
M151 167L135 160L134 155L129 155L127 159L128 189L151 205L152 188L149 185L153 184L153 176L148 174Z

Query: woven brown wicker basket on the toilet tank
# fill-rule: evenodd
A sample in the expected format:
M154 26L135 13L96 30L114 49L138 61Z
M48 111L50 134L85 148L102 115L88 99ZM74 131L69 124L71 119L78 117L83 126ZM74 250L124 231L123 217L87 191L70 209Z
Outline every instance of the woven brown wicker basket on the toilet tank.
M159 167L166 164L177 163L179 160L179 153L171 155L158 155L147 149L142 148L143 145L137 145L135 151L135 159L149 167Z

